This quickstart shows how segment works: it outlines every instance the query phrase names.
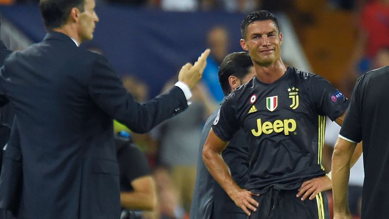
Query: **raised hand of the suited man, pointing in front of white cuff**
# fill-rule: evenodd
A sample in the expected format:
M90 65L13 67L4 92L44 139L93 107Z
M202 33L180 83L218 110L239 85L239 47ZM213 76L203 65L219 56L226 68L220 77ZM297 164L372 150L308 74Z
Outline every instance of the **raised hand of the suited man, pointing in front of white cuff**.
M186 63L182 66L178 74L178 81L184 82L190 89L192 89L203 76L204 68L207 65L207 57L210 52L210 49L206 49L195 64L192 65L191 63Z

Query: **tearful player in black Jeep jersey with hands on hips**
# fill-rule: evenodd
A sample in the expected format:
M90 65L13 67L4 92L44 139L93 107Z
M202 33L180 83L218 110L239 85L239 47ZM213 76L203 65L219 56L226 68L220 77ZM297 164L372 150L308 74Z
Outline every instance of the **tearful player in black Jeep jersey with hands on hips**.
M204 145L204 162L250 218L329 218L323 191L331 180L321 166L325 117L341 124L347 99L322 77L283 63L283 35L270 12L250 13L241 32L256 77L223 102ZM220 156L239 129L248 141L245 189Z

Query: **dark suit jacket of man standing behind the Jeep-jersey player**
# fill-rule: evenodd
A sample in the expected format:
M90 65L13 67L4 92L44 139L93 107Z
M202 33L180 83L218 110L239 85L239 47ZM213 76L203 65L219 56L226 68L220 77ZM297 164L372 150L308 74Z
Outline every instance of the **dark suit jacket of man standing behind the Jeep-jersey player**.
M203 161L203 147L219 109L207 119L201 133L197 160L195 192L190 206L190 219L245 219L246 213L232 201L209 173ZM222 152L232 178L244 188L249 165L246 137L242 130L235 133Z

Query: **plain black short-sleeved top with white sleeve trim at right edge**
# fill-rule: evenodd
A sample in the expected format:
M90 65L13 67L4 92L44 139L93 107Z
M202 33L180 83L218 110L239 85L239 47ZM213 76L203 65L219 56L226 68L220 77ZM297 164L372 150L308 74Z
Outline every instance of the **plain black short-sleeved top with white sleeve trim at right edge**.
M355 85L339 137L363 142L361 218L388 218L389 206L389 66L367 72Z

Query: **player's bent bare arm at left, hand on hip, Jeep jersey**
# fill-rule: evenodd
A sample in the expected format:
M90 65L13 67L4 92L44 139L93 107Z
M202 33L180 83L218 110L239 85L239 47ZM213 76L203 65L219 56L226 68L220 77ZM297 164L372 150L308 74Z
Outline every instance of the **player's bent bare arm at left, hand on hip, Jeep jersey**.
M227 142L221 140L211 129L204 143L204 163L213 178L220 184L232 201L242 208L247 215L251 215L250 210L256 211L258 202L252 198L255 195L254 193L240 188L232 179L228 166L221 156L221 152L226 145Z

